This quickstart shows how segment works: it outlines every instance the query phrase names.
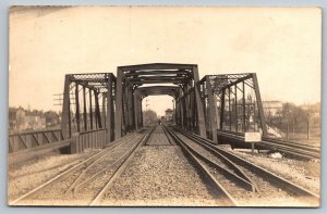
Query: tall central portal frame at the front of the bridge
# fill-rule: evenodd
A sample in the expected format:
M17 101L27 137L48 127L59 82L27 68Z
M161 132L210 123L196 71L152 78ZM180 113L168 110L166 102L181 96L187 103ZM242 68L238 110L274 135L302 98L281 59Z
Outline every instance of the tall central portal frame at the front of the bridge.
M140 110L140 105L142 108L142 101L137 101L135 89L144 84L173 84L179 86L179 98L175 98L175 109L177 112L183 112L183 114L180 113L180 116L175 118L177 124L182 124L183 127L199 134L202 137L206 137L199 89L194 87L197 86L198 80L196 64L152 63L119 66L117 68L116 139L138 127L135 112L140 111L135 110ZM191 92L192 88L194 88L193 92ZM132 99L133 96L134 99ZM183 106L187 108L187 110L193 110L195 115L191 116L190 112L186 115L187 111L183 111Z

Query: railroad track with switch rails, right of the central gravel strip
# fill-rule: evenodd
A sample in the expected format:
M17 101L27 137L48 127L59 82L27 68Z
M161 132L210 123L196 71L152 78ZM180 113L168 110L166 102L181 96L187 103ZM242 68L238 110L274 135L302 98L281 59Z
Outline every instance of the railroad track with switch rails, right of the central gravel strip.
M232 197L234 201L244 200L240 196L249 196L247 191L252 191L252 194L259 198L265 198L267 192L286 199L291 197L301 204L317 204L319 201L319 196L217 147L210 140L181 129L179 133L170 130L170 134L181 144L187 156L199 162L201 167L210 172L217 182L223 187L222 190L227 192L227 196Z

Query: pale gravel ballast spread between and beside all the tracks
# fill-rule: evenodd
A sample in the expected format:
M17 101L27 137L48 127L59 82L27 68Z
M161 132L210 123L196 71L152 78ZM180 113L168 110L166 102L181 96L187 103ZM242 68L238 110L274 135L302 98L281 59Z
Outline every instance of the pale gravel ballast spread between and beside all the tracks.
M117 147L94 164L84 164L75 173L55 182L40 191L25 205L88 205L88 202L104 188L120 163L126 158L126 152L142 134L129 138L124 146ZM214 153L206 151L186 137L179 135L193 149L207 159L215 161L221 167L229 168ZM108 147L111 148L111 146ZM225 148L226 150L226 148ZM229 149L228 149L229 150ZM35 187L53 178L56 175L72 168L88 156L100 150L86 151L82 154L60 155L50 153L20 165L9 167L9 201L28 192ZM232 151L232 150L229 150ZM272 159L265 153L251 155L249 150L233 150L239 156L257 164L275 174L284 177L300 186L319 193L319 161L310 162L290 159ZM124 156L120 159L120 156ZM110 184L108 190L99 200L99 205L113 206L221 206L217 192L210 189L206 179L187 160L182 149L168 140L162 126L157 126L148 141L138 148L126 162L126 168ZM203 162L204 164L204 162ZM88 169L87 166L89 165ZM299 201L283 189L272 187L261 176L239 166L258 186L259 192L247 191L238 184L231 182L219 171L208 167L208 171L234 198L241 206L311 206L310 202ZM233 169L232 169L233 171ZM82 173L83 172L83 173ZM81 174L82 173L82 174ZM81 184L87 180L78 191L71 191L72 184L81 175ZM83 175L83 176L82 176ZM94 176L94 177L93 177ZM70 189L70 191L66 191Z

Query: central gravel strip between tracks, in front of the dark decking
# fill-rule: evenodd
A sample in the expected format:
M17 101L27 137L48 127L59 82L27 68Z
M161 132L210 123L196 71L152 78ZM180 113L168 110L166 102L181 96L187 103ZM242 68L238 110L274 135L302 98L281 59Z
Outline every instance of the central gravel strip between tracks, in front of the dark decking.
M141 148L105 205L218 205L179 147Z

